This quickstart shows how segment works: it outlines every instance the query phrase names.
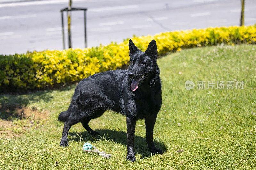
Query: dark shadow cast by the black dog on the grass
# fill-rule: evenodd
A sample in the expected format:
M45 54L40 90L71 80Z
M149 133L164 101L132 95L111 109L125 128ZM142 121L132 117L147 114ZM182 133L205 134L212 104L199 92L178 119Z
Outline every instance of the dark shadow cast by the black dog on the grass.
M86 142L95 142L97 140L109 140L114 141L116 143L120 143L122 145L127 145L127 133L124 131L116 131L116 130L110 130L110 129L96 129L99 135L91 136L88 134L88 132L82 132L82 133L68 133L69 139L68 141L86 141ZM71 138L70 138L71 137ZM154 140L154 144L157 148L161 149L163 152L167 151L167 147L156 140ZM151 156L151 152L149 152L148 144L146 142L146 138L140 137L138 135L134 136L134 149L136 154L141 154L141 159L145 159L147 157ZM126 152L125 152L126 154Z

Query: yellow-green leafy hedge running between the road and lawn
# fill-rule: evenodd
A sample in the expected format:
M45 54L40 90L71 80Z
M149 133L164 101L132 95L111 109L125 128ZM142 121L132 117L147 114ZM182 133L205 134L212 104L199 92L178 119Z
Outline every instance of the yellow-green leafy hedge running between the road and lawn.
M146 50L152 39L156 40L159 55L221 43L255 44L256 26L194 29L132 37L141 50ZM95 73L115 70L129 62L128 40L85 49L0 55L0 91L49 89L80 81Z

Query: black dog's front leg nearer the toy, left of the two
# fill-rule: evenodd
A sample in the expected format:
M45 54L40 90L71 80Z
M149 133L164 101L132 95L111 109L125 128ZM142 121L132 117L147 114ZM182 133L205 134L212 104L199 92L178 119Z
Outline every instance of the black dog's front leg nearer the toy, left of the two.
M134 152L134 131L136 120L126 117L127 124L127 160L132 162L135 161L135 152Z

